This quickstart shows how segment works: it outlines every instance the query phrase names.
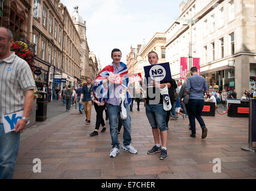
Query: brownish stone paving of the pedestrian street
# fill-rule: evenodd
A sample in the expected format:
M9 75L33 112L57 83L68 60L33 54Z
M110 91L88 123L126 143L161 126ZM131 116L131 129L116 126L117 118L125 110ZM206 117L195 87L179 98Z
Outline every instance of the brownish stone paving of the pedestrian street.
M256 153L240 149L248 142L248 118L204 116L208 135L202 140L198 122L197 137L191 138L188 118L179 116L169 122L168 158L160 161L159 154L147 155L154 141L143 103L140 108L131 112L137 155L121 150L110 158L109 122L105 133L89 137L95 127L94 108L91 125L85 125L84 113L73 110L21 134L14 178L256 178ZM32 171L35 158L41 159L41 173ZM221 173L212 171L215 158L221 159Z

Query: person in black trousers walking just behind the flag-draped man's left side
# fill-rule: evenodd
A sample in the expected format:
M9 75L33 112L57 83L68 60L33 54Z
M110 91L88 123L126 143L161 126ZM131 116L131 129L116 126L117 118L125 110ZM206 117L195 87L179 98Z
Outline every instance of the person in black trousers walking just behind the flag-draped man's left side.
M92 83L94 84L94 83ZM103 129L101 130L101 133L104 133L106 131L106 126L105 126L105 122L103 119L103 111L105 109L105 104L101 104L100 101L97 100L97 98L95 97L95 91L94 91L94 87L92 87L92 91L91 91L91 98L92 98L92 103L94 103L94 108L96 111L96 124L95 124L95 130L94 132L92 132L90 134L90 136L95 136L98 135L98 131L100 128L100 125L102 125Z

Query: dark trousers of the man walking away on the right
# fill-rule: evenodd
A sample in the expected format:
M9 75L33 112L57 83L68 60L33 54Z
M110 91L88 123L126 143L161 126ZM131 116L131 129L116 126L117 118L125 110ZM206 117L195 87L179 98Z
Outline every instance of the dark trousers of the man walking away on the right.
M195 118L199 122L201 129L203 130L205 126L203 118L201 118L201 113L204 107L204 100L189 99L188 106L190 110L190 125L192 129L192 135L195 135Z

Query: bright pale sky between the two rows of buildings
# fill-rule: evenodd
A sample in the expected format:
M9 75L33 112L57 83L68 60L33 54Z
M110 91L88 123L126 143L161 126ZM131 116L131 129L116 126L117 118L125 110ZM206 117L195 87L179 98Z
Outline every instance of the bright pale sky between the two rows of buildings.
M103 67L112 63L111 51L122 51L126 63L130 47L149 42L156 32L166 32L179 17L182 0L61 0L70 13L74 5L86 21L90 51ZM186 0L185 0L186 2Z

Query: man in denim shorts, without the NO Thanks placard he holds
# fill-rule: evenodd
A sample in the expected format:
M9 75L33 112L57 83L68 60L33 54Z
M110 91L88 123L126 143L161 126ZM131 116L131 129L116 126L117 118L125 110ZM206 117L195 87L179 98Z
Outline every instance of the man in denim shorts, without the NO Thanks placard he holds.
M157 64L158 55L155 52L150 52L148 54L148 60L150 64ZM149 79L147 79L149 82ZM156 82L150 81L147 83L146 91L146 115L149 120L149 124L152 127L153 138L155 140L155 146L147 151L147 154L153 154L156 152L161 152L159 159L167 159L167 130L166 130L166 112L163 108L163 97L160 94L160 88L164 88L167 85L168 88L171 87L171 81L166 82ZM160 145L160 138L162 141L162 147Z

